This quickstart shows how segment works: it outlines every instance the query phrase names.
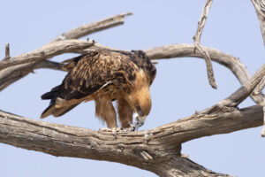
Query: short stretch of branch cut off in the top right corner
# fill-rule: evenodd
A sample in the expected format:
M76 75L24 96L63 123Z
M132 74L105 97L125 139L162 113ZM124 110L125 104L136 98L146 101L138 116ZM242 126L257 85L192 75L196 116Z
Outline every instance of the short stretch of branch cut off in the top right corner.
M262 0L251 0L254 4L258 19L260 20L261 35L265 45L265 3Z

